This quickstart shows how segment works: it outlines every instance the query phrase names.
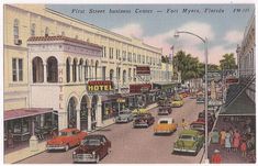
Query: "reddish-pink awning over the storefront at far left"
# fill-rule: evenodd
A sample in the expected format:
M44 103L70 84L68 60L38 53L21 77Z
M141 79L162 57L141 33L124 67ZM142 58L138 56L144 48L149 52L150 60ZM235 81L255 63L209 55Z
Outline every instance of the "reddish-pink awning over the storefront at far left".
M4 111L4 121L20 119L20 118L34 117L34 115L49 113L49 112L53 112L53 109L51 109L51 108L30 108L30 109L8 110L8 111Z

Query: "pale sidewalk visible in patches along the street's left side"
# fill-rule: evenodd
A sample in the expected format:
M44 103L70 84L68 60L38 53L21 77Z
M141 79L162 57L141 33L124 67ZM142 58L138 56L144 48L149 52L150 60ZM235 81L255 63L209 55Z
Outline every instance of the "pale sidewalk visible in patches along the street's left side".
M147 110L150 110L150 109L154 109L157 107L157 103L153 103L153 104L149 104L146 109ZM114 124L114 119L109 119L109 120L105 120L103 121L102 125L101 126L98 126L96 130L91 131L91 132L88 132L89 134L90 133L93 133L98 130L101 130L103 128L106 128L109 125L112 125ZM34 155L37 155L40 153L43 153L45 152L45 146L46 146L46 142L41 142L38 143L37 147L38 150L37 151L34 151L32 152L30 150L30 147L25 147L25 148L22 148L22 150L19 150L19 151L15 151L15 152L12 152L12 153L9 153L9 154L5 154L4 155L4 164L14 164L14 163L18 163L22 159L25 159L25 158L29 158L29 157L32 157Z

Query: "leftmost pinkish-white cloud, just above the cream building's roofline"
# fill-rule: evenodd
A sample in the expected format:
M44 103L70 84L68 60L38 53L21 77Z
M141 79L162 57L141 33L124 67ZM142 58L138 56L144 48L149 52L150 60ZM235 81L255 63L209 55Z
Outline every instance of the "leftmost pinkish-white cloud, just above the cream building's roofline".
M119 33L121 35L130 36L130 37L138 37L143 36L143 27L137 23L130 23L122 27L112 29L111 31Z

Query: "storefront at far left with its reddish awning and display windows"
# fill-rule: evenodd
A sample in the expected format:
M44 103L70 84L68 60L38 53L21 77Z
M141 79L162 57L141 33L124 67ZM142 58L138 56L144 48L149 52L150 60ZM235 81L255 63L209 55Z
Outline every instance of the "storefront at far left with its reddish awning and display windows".
M29 141L33 134L40 140L44 139L52 131L58 130L57 122L58 115L53 109L4 111L4 145L14 146Z

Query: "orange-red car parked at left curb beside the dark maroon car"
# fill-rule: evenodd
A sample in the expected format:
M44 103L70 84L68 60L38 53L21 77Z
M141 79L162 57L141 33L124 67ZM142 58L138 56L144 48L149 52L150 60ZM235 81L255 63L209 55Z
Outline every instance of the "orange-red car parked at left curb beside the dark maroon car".
M64 129L59 131L59 135L53 137L46 143L46 151L65 150L68 151L72 146L80 144L80 141L87 136L86 132L78 129Z

